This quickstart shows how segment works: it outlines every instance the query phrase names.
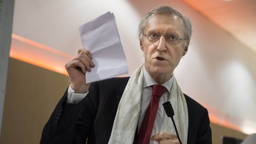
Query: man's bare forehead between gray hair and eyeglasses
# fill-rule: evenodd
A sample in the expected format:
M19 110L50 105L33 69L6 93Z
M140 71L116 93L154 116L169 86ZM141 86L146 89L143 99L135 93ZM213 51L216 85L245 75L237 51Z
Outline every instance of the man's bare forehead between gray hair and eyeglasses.
M185 25L183 20L176 15L154 14L151 15L145 24L144 33L157 31L159 33L177 33L184 35Z

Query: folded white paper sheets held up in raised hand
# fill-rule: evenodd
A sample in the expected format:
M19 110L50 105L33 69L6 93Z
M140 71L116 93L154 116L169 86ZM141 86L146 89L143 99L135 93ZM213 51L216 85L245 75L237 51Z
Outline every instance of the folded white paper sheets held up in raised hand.
M95 67L85 74L87 83L128 73L114 14L107 12L79 27L82 46L92 54Z

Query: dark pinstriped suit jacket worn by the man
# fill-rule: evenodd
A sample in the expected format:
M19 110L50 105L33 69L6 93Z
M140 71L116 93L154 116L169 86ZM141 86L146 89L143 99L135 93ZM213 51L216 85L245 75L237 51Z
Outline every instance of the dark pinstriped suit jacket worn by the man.
M111 78L94 82L89 87L87 97L78 104L66 103L66 91L44 126L40 143L108 143L117 107L128 80ZM187 143L212 143L206 108L187 95L185 100L188 108Z

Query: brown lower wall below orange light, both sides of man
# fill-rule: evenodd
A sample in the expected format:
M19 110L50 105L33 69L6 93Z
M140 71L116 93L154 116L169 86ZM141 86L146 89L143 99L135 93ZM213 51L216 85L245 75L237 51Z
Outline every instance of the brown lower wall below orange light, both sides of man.
M41 130L68 85L65 75L10 59L0 143L39 143ZM246 136L217 124L211 126L214 144L223 135Z

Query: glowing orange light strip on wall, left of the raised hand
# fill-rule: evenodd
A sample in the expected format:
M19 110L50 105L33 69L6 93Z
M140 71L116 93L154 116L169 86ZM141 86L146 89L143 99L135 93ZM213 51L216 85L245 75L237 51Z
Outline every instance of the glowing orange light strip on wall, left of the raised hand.
M18 44L14 43L15 40L18 41ZM56 56L56 59L62 59L61 61L63 62L58 62L58 60L53 58L49 59L49 55L52 55L52 57ZM66 53L60 52L43 44L36 43L35 41L25 39L24 37L16 34L12 34L9 56L63 75L68 75L65 69L65 62L72 59L72 56Z

